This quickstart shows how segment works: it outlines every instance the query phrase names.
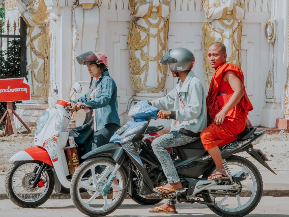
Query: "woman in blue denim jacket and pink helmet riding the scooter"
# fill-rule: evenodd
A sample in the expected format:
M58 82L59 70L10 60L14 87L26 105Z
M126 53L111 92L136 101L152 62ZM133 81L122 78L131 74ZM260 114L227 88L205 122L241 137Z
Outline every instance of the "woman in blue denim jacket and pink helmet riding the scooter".
M77 56L77 62L87 65L90 76L95 80L91 89L83 97L71 100L73 107L92 113L86 123L69 131L78 145L78 154L83 156L87 152L109 143L110 138L120 127L117 112L116 84L109 76L107 58L100 52L86 52Z

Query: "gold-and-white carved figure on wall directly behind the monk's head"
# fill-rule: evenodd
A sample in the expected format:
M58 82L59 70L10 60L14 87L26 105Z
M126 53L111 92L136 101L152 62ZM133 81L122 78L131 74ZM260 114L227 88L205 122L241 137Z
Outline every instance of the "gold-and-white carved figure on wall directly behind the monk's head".
M212 43L221 42L227 47L227 62L241 67L241 36L245 16L245 0L203 0L207 13L203 25L202 44L205 48L203 69L209 89L214 69L208 65L207 54Z

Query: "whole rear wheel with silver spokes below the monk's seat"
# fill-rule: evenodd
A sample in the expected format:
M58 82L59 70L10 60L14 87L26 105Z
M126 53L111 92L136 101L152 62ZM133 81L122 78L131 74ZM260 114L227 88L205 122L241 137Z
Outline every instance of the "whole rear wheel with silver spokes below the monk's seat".
M246 216L256 208L261 200L263 192L262 176L257 167L244 157L233 155L226 160L232 176L235 174L236 176L246 177L245 180L240 182L242 185L241 192L236 196L203 194L203 199L205 202L212 203L215 198L217 206L208 205L208 207L219 216ZM209 169L203 177L208 177L215 169L216 167ZM207 192L217 193L211 190ZM227 200L228 198L229 200Z

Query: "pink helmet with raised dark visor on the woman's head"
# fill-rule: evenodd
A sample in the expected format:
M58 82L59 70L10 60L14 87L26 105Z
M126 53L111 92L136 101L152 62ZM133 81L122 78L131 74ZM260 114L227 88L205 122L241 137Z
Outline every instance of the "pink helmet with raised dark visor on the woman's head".
M89 65L89 64L100 65L101 63L103 63L106 67L108 66L107 57L105 56L105 54L101 52L88 51L77 56L76 60L80 65Z

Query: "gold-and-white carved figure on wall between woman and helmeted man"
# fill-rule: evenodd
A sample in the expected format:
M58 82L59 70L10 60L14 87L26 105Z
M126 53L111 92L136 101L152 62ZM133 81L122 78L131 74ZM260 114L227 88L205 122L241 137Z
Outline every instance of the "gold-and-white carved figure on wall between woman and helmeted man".
M139 96L163 95L168 68L160 64L168 45L171 1L130 0L134 8L129 25L128 43L131 87Z

